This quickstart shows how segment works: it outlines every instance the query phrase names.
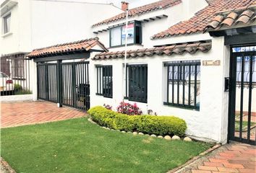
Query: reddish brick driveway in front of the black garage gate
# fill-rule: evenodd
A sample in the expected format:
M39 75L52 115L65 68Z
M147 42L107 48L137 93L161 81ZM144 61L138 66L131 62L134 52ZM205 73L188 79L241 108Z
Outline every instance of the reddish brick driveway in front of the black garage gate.
M85 111L51 102L1 102L1 128L83 117Z

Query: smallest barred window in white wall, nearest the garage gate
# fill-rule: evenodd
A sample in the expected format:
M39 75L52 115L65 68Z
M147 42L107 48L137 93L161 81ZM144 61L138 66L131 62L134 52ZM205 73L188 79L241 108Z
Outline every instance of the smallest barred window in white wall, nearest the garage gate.
M96 66L97 70L97 93L103 97L112 98L113 83L112 83L112 66Z

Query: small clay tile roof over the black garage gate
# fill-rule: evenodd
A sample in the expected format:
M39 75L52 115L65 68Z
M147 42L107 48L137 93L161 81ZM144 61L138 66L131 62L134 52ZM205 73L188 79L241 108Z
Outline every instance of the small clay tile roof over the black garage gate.
M37 56L56 56L67 53L81 53L90 50L95 45L99 45L103 50L108 51L108 49L98 40L98 37L94 37L72 43L64 43L52 45L46 48L35 49L29 53L27 57L35 58Z

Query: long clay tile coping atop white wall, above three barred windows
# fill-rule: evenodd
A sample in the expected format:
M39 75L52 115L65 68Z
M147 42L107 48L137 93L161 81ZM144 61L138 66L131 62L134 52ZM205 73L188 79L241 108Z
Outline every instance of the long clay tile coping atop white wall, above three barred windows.
M203 53L208 52L211 48L211 43L183 43L179 45L162 46L158 48L144 48L137 50L127 50L127 58L139 58L144 56L171 56L174 53L182 55L183 53L197 53L201 51ZM95 55L93 60L106 60L111 58L124 58L124 51L106 52Z

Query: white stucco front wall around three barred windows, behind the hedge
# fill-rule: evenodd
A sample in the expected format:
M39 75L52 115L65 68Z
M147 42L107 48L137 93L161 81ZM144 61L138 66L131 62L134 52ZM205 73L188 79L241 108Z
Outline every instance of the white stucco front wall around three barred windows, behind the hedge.
M153 56L149 58L129 58L127 63L148 64L148 103L137 102L144 113L153 110L158 115L175 115L186 120L187 135L203 141L226 143L228 119L228 92L224 92L224 77L229 74L229 58L223 46L223 37L213 39L213 48L208 53L184 54L182 56ZM165 61L182 60L220 60L221 66L202 66L200 76L200 111L185 110L163 105L166 97ZM90 61L90 102L91 106L108 104L114 108L124 96L122 64L124 60ZM95 95L95 64L113 66L113 99ZM127 100L125 100L127 101ZM127 101L128 102L128 101Z

